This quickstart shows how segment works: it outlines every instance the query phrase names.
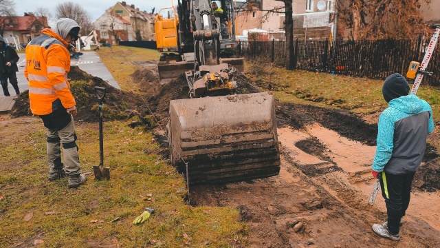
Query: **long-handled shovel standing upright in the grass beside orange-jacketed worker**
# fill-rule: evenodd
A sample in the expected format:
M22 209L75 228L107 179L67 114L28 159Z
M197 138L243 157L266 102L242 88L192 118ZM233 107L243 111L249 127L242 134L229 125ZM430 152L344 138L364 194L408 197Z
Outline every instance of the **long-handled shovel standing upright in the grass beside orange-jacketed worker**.
M100 96L99 92L103 92L102 96ZM99 104L99 158L100 163L98 165L94 165L94 174L97 180L109 180L110 179L110 168L104 167L104 141L102 138L102 101L105 96L105 88L95 86L95 94L96 98L98 98Z

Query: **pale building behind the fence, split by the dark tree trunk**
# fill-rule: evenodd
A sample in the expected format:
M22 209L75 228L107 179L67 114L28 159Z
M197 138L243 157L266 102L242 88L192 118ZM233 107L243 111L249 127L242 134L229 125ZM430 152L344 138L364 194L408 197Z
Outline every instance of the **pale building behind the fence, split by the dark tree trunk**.
M284 32L284 3L276 0L255 1L261 4L252 8L237 4L237 28L242 30L259 28L268 33ZM336 34L335 0L296 0L292 3L294 39L329 39ZM267 10L278 10L270 12ZM244 11L243 11L244 10ZM261 11L263 10L263 11ZM265 10L265 11L264 11Z

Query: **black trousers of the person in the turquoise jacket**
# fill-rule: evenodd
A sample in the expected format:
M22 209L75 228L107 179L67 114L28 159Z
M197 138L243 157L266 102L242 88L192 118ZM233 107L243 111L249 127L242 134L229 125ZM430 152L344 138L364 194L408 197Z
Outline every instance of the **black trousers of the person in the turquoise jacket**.
M399 234L400 219L405 216L410 204L411 185L415 172L410 174L393 175L382 172L380 187L385 199L386 214L388 215L388 231L392 235Z

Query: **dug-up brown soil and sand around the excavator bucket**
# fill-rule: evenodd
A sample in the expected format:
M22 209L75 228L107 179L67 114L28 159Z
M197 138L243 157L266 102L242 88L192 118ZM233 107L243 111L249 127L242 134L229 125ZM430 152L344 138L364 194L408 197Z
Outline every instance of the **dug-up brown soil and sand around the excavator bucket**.
M140 83L153 69L137 70ZM69 78L89 82L78 101L76 120L96 121L94 86L106 87L104 121L133 118L136 125L156 130L149 118L164 129L169 101L185 99L184 76L144 95L115 90L106 82L74 68ZM236 74L239 94L261 92L242 74ZM14 116L29 115L22 94ZM27 104L27 105L26 105ZM106 112L104 112L106 113ZM111 114L113 113L113 114ZM375 153L378 113L355 116L344 110L276 102L281 172L278 176L225 185L191 186L192 205L236 207L249 224L252 247L440 247L439 154L428 145L413 183L410 207L401 227L401 241L373 234L371 225L386 220L382 196L368 205L375 180L371 162ZM133 124L133 126L135 125ZM159 141L166 137L157 132ZM430 143L438 143L434 131ZM164 146L166 142L162 143ZM164 156L168 156L166 152ZM236 247L243 244L237 240Z

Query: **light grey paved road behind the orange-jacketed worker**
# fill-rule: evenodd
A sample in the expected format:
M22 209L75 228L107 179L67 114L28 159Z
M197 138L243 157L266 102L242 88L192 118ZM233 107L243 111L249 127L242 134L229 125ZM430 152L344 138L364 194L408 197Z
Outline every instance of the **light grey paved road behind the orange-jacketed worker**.
M29 85L28 80L26 80L25 75L23 74L25 70L25 54L21 53L19 54L19 57L20 59L17 63L17 65L19 66L19 72L17 72L17 80L19 81L19 89L21 92L23 92L29 89ZM113 76L111 76L111 73L102 63L96 52L83 51L83 55L79 56L78 59L71 58L70 65L78 65L81 70L93 76L100 77L102 80L107 81L111 86L120 90L118 82L113 79ZM11 96L15 95L14 87L12 87L10 83L8 83L8 90ZM0 90L0 96L4 96L3 90Z

